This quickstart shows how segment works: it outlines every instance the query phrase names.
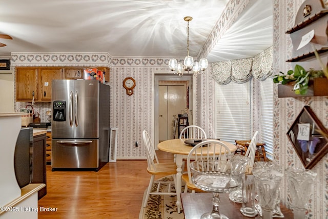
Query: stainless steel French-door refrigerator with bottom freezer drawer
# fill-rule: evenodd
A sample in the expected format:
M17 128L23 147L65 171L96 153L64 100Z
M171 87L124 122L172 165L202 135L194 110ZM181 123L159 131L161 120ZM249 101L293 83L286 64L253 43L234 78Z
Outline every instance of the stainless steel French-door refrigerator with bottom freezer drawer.
M96 80L52 81L52 170L95 169L109 160L110 87Z

